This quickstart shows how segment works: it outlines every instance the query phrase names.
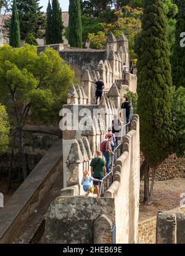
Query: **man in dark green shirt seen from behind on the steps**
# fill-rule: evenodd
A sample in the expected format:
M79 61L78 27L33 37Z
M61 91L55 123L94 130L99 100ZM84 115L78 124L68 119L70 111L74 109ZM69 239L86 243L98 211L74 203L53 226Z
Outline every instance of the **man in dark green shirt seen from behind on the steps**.
M102 152L97 151L96 157L91 161L91 174L94 179L102 180L106 173L105 162L102 159ZM97 194L99 195L99 181L93 181Z

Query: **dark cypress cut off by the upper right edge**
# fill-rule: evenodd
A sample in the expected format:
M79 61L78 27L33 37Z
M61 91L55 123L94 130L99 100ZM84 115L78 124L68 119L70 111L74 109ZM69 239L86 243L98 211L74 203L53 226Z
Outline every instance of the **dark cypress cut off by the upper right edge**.
M175 46L171 57L173 84L185 87L185 47L182 47L181 33L185 32L185 1L178 0L178 17L176 23Z

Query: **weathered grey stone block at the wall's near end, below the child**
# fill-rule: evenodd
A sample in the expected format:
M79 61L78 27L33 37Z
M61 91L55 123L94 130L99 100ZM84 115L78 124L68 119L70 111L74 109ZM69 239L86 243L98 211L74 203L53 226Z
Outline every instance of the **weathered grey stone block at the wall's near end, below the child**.
M114 200L99 197L57 197L46 214L44 243L93 244L94 221L105 215L115 220ZM101 232L103 226L99 228Z

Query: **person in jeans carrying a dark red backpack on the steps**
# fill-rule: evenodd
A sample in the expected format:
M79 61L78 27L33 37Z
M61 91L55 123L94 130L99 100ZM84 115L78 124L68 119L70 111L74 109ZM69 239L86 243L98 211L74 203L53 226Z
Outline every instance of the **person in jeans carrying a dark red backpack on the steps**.
M102 142L101 144L101 151L103 152L103 155L105 157L106 160L106 170L107 173L109 173L109 165L110 165L110 153L112 155L114 155L114 152L112 151L112 146L111 146L111 142L113 140L113 137L111 135L108 136L108 139L105 140L104 142ZM104 148L102 148L104 146Z

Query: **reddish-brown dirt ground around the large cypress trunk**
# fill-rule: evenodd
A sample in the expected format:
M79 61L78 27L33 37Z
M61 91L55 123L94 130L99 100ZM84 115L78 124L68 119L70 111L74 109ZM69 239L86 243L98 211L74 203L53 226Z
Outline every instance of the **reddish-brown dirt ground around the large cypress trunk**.
M157 215L158 210L171 210L180 206L181 193L185 193L185 179L155 181L152 205L142 203L144 197L144 181L140 185L139 221Z

